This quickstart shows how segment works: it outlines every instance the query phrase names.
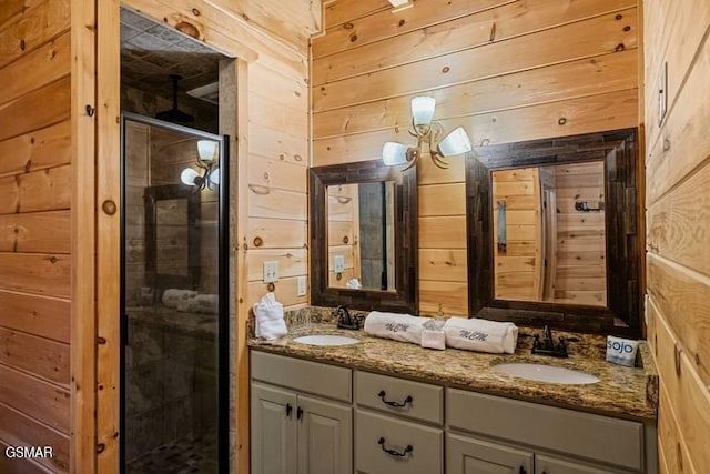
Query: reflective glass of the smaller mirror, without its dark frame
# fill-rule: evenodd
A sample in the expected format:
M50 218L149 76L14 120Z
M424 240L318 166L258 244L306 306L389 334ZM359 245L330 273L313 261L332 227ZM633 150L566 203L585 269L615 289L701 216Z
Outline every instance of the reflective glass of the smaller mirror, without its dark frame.
M327 186L328 286L395 290L394 181Z

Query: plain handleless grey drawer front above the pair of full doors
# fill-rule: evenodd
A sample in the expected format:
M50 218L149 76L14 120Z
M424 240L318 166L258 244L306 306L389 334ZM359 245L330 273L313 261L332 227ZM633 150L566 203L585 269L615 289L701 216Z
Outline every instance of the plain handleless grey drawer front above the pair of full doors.
M252 351L252 379L343 402L353 400L352 371L335 365Z

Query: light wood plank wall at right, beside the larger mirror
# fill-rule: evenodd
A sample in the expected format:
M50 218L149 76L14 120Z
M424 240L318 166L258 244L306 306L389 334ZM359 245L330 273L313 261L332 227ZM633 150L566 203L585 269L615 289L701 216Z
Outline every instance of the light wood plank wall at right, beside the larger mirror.
M710 3L645 3L647 320L661 380L660 471L700 474L710 472ZM668 112L659 123L660 89Z

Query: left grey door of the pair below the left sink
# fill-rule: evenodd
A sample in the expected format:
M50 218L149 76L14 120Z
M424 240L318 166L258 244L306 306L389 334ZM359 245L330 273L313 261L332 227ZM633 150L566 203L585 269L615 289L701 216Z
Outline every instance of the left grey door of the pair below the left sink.
M296 394L252 383L252 473L296 473Z

